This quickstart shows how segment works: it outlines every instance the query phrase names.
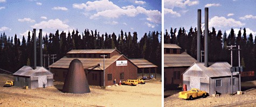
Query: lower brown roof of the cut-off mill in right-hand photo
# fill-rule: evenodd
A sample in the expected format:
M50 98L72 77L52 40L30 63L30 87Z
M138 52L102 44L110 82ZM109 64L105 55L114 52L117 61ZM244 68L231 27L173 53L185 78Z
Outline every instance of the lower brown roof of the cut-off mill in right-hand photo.
M197 60L189 54L164 54L164 67L190 67Z

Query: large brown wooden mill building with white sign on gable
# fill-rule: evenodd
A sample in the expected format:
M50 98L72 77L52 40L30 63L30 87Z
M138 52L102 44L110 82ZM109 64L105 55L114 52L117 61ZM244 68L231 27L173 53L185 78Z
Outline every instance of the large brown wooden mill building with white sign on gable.
M85 69L89 85L103 86L103 57L101 55L106 55L105 85L113 85L114 79L116 83L120 80L137 79L137 71L141 67L157 67L147 60L138 59L142 63L132 62L117 49L74 49L49 67L54 74L55 81L65 81L70 62L73 59L79 59Z

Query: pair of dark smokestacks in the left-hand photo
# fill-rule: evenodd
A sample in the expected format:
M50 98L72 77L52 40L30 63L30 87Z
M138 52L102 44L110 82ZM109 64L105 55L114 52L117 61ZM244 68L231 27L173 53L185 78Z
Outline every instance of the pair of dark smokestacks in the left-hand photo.
M34 38L34 69L37 69L37 29L33 29ZM42 29L39 29L39 46L40 46L40 67L43 66L43 39L42 39Z

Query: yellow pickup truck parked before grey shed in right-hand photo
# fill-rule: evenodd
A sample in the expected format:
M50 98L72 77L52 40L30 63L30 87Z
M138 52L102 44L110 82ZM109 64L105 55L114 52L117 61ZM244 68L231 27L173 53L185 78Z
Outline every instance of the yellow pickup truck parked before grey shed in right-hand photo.
M179 98L183 98L183 99L193 99L193 98L200 97L200 96L205 98L207 96L206 91L201 91L199 89L192 88L189 91L179 92Z

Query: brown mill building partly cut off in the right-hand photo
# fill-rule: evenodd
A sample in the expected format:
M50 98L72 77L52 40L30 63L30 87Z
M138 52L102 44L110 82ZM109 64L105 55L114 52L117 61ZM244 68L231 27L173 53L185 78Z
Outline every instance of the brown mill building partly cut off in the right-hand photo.
M182 84L182 73L185 72L196 59L188 53L182 52L176 44L164 44L164 88L173 89Z

